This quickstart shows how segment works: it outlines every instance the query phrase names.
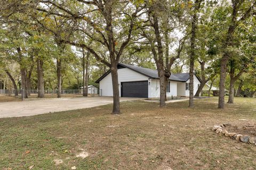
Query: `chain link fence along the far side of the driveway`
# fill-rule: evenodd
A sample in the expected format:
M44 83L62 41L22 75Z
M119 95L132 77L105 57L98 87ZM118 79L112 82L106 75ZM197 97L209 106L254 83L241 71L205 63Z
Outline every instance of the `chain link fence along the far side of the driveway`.
M37 98L39 94L43 94L44 98L57 98L59 90L7 90L0 89L1 96L17 97L17 98ZM88 91L88 97L97 97L102 95L102 90L92 89ZM63 89L60 91L62 97L83 97L83 89Z

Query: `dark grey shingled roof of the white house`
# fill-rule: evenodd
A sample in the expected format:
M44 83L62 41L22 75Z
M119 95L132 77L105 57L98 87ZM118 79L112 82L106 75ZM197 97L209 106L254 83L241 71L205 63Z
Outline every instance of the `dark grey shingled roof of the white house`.
M125 67L127 69L133 70L137 73L140 73L142 75L145 75L146 77L150 78L150 79L159 79L158 77L158 72L157 70L153 70L153 69L147 69L147 68L143 68L140 66L135 66L135 65L129 65L129 64L123 64L123 63L118 63L119 66ZM110 73L110 70L107 71L105 74L103 74L97 81L95 81L96 83L99 83L103 78L105 78L108 74ZM181 81L181 82L186 82L189 79L189 73L179 73L179 74L171 74L171 77L169 78L169 80L172 81ZM199 78L197 78L199 81L201 81Z

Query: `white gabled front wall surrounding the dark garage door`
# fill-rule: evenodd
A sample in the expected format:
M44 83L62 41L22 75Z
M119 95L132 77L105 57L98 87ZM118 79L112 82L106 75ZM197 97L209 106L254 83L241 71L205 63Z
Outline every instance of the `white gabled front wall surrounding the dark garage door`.
M130 69L118 69L118 84L119 84L119 95L121 97L121 82L131 81L148 81L148 77L140 73L134 72ZM100 89L102 90L102 96L113 96L113 87L111 73L100 81Z

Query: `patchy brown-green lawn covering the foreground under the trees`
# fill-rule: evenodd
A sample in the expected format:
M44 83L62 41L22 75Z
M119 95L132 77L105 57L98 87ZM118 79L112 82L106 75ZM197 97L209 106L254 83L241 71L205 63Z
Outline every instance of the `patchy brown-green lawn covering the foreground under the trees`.
M105 105L3 118L0 169L255 169L256 146L210 130L214 124L256 124L256 100L235 101L223 111L217 98L206 98L195 100L194 109L188 101L165 108L128 101L118 116ZM76 157L79 149L89 156ZM63 163L54 165L54 159Z

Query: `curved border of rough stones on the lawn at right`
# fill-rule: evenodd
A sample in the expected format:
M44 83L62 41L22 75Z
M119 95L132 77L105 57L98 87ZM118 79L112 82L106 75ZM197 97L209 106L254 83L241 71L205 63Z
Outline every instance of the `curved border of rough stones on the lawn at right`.
M212 131L217 134L225 135L226 137L230 137L234 140L250 143L256 146L256 138L250 137L249 135L237 134L237 133L229 133L225 127L230 126L230 124L222 124L222 125L214 125Z

